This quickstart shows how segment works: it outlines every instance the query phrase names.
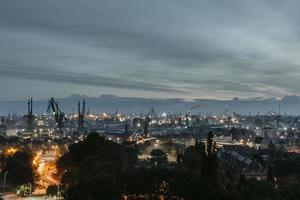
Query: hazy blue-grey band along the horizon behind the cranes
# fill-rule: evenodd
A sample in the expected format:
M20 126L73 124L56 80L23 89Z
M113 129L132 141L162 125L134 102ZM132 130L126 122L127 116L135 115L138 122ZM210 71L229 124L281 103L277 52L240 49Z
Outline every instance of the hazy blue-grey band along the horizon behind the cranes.
M276 98L249 98L232 100L215 99L194 99L184 100L180 98L135 98L118 97L115 95L101 95L100 97L88 97L73 94L69 97L57 99L61 110L65 113L77 112L77 101L86 100L86 107L91 113L109 112L118 110L121 113L143 113L147 114L153 107L158 113L213 113L219 114L228 111L229 113L240 114L266 114L269 111L278 113L300 115L300 96L285 96L282 99ZM33 99L34 100L34 99ZM48 100L38 100L33 102L34 113L45 113ZM280 105L280 106L279 106ZM27 112L27 101L2 101L0 102L0 114L17 112L25 114Z

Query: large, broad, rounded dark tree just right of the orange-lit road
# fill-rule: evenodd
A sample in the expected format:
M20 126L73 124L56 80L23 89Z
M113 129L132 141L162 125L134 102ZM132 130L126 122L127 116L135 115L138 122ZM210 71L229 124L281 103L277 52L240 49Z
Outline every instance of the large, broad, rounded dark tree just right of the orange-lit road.
M122 174L136 162L133 148L89 134L57 162L65 199L120 199L126 184Z

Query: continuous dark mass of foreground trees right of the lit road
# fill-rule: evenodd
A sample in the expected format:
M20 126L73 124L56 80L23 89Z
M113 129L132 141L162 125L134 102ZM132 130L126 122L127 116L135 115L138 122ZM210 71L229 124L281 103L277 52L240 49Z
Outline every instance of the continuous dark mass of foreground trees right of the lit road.
M151 164L141 166L134 144L116 144L92 133L83 142L70 146L58 161L67 200L185 199L185 200L279 200L299 199L296 183L277 185L274 181L226 178L228 173L217 163L212 133L205 145L178 152L176 165L167 162L160 150L151 152ZM277 163L274 173L282 176L286 163ZM291 166L298 169L297 164ZM294 170L297 174L297 170ZM224 175L226 174L226 175ZM270 174L270 177L273 177ZM228 179L229 181L224 181ZM297 182L298 181L298 182Z

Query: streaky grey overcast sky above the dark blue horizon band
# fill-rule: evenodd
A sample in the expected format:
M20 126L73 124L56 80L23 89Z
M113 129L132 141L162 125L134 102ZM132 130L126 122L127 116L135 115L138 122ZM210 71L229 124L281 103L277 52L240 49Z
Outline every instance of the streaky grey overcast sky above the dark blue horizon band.
M0 0L0 100L300 95L299 0Z

